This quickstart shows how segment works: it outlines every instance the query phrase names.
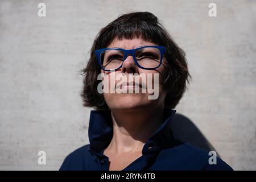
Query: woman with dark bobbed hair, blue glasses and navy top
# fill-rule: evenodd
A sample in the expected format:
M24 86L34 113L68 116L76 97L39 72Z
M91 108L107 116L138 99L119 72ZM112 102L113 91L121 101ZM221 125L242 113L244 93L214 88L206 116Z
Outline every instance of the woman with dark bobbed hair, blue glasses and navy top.
M90 144L69 154L60 170L232 170L173 137L172 108L191 75L185 53L153 14L123 14L102 28L82 72L84 106L97 109L90 113ZM139 81L127 81L129 75ZM122 92L111 92L117 88Z

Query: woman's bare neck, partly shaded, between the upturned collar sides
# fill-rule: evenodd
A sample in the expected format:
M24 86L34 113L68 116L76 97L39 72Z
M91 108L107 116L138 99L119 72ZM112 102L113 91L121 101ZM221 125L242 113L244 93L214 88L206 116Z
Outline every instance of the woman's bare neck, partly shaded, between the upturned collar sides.
M163 107L143 110L112 110L113 138L109 149L116 154L142 151L163 120Z

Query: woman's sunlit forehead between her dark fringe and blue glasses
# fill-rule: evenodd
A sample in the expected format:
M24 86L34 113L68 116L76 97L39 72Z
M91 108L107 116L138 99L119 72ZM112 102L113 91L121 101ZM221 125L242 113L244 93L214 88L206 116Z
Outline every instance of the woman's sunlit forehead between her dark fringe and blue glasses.
M155 43L143 40L142 38L134 38L134 39L123 38L121 40L118 38L115 38L107 48L117 47L122 49L134 49L141 46L158 46L158 45L156 45Z

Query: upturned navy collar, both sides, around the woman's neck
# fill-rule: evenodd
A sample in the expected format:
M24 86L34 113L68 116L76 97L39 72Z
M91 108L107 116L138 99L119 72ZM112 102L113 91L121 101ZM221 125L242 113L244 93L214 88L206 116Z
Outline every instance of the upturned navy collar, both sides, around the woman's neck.
M176 113L173 109L164 109L163 122L154 134L144 144L142 154L153 154L164 148L170 148L177 144L169 123ZM113 136L113 123L110 110L92 110L89 120L89 151L91 154L99 154L108 147Z

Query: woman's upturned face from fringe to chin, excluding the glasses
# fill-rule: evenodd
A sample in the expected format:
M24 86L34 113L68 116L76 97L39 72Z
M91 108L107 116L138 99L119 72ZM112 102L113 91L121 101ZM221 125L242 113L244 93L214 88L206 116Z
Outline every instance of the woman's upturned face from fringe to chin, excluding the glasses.
M134 49L141 46L158 46L158 45L151 42L146 42L141 38L135 38L131 40L129 39L119 40L116 38L113 40L112 43L110 43L108 48L115 47L115 48L123 48L123 49ZM163 75L164 69L166 69L167 67L167 64L168 63L165 57L163 57L163 61L160 67L156 69L151 69L151 70L142 69L137 67L133 59L133 56L129 55L126 57L126 60L123 61L123 65L121 69L118 69L115 72L107 72L107 71L101 70L101 73L106 73L107 75L104 79L109 80L108 81L109 88L110 88L111 76L113 78L116 75L118 75L118 73L119 75L121 75L122 73L122 75L127 78L126 81L124 81L125 79L124 80L115 79L114 84L112 84L115 88L117 88L122 83L121 88L127 89L127 93L116 93L116 92L104 93L106 104L108 104L111 110L117 110L117 109L133 110L133 109L147 109L147 108L152 109L152 107L164 107L164 99L166 98L166 92L163 90L163 85L161 84L161 82L163 79L162 75ZM151 74L148 74L148 73L151 73ZM129 74L135 74L135 75L138 74L139 76L141 76L139 80L139 84L141 84L143 88L147 88L147 86L151 86L151 88L153 88L155 92L155 96L152 97L152 95L154 95L154 93L152 93L152 89L151 89L151 92L148 92L148 89L146 89L146 93L142 93L142 88L140 87L139 93L134 93L135 88L133 86L131 87L123 86L123 84L126 85L127 82L131 81L131 80L128 80ZM146 78L147 78L146 85L142 84L142 75L146 75ZM159 76L159 79L157 79L156 75ZM148 80L148 77L151 77L151 81L150 79ZM148 84L148 81L150 81L149 84ZM154 88L154 87L158 87L158 91L157 91L157 88ZM132 89L133 93L129 93L129 89ZM149 96L151 96L151 99L149 99L150 98Z

